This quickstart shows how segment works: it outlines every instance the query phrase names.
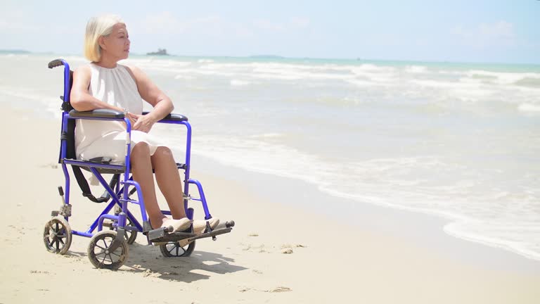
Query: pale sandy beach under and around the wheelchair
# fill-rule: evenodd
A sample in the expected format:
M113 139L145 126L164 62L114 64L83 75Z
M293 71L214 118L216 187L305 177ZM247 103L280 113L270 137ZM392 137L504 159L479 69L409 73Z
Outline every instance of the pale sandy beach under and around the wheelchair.
M4 231L0 303L538 303L540 262L439 232L439 220L366 207L365 218L300 208L307 186L245 184L240 170L197 170L212 215L233 219L231 234L198 241L189 258L164 258L139 234L120 270L97 270L89 239L66 255L41 240L61 201L59 122L5 108ZM195 158L195 163L198 158ZM210 171L210 172L208 172ZM251 173L252 174L252 173ZM74 184L75 185L75 184ZM279 191L276 191L279 189ZM324 201L319 199L319 201ZM70 224L86 229L103 205L72 190ZM329 204L330 205L330 204ZM319 206L320 207L320 206ZM200 213L199 213L200 214ZM363 222L364 224L359 224ZM283 253L290 248L292 253ZM289 251L289 252L290 252Z

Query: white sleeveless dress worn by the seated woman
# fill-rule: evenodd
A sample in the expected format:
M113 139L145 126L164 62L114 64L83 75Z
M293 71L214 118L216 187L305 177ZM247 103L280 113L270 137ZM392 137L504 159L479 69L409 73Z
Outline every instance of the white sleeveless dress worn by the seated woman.
M112 106L124 108L129 113L143 113L143 99L127 67L103 68L90 63L92 71L89 93ZM131 130L131 148L139 142L150 146L150 155L159 146L165 146L148 133ZM126 153L126 127L120 121L77 120L75 127L75 152L77 159L96 157L112 158L111 163L123 164Z

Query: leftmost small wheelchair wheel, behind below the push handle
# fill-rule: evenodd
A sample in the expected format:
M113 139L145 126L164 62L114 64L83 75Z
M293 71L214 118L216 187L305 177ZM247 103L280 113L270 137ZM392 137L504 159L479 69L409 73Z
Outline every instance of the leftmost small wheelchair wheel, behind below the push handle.
M45 224L43 241L50 253L64 255L71 246L71 227L65 218L57 216Z

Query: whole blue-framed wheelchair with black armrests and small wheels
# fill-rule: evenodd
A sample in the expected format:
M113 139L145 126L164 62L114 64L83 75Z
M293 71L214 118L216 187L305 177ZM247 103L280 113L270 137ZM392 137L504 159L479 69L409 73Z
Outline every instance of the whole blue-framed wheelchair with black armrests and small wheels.
M193 224L184 232L173 232L172 227L160 227L152 229L146 209L141 187L130 175L129 151L131 151L131 124L124 113L115 110L96 109L79 112L70 105L70 90L72 86L72 71L70 65L63 59L56 59L49 63L49 68L64 67L64 90L62 99L62 125L60 134L60 163L65 175L65 192L63 186L58 186L58 193L62 198L59 210L53 210L51 220L46 222L44 228L44 243L47 251L64 255L68 253L72 236L85 236L90 238L88 246L88 258L92 265L97 268L117 270L124 265L129 253L129 244L134 243L139 232L146 236L148 245L160 246L162 255L167 258L188 257L195 249L195 240L211 237L214 241L219 234L231 232L234 221L221 222L212 229L206 223L206 228L202 234L193 233ZM145 114L145 113L143 113ZM120 120L127 126L126 155L122 165L110 163L110 158L93 158L91 160L77 160L75 155L75 120ZM179 170L184 170L184 208L186 215L193 220L193 208L190 208L190 201L202 203L205 213L205 220L210 220L212 215L208 210L203 186L196 179L191 179L191 125L184 115L169 114L159 121L165 124L184 125L186 132L186 159L184 163L177 163ZM105 203L105 208L98 215L96 220L86 231L72 229L69 224L69 217L72 215L72 205L70 204L70 173L68 165L72 167L73 174L82 190L82 195L94 203ZM91 194L86 178L82 171L86 170L96 177L105 191L100 197ZM103 175L113 175L109 182L105 181ZM193 184L198 189L198 197L189 194L189 186ZM137 194L137 199L132 198ZM141 222L129 211L129 205L139 205L141 211ZM165 215L171 215L169 210L162 210ZM106 229L105 229L106 228Z

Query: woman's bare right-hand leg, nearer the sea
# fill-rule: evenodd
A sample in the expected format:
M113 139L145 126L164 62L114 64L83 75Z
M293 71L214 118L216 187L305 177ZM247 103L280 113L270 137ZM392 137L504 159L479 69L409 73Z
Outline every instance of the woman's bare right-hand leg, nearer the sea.
M184 191L182 191L180 173L176 167L171 150L167 147L160 146L150 158L155 170L155 180L158 182L165 200L167 200L172 218L179 220L186 217Z

